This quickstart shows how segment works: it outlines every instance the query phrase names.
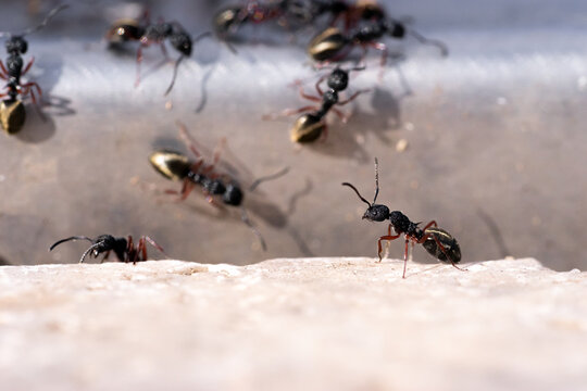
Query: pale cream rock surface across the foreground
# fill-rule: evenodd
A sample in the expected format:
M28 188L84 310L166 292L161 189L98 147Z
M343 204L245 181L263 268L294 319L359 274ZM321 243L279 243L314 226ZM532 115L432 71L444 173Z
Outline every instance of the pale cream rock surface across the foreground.
M466 268L1 267L1 389L585 390L587 275Z

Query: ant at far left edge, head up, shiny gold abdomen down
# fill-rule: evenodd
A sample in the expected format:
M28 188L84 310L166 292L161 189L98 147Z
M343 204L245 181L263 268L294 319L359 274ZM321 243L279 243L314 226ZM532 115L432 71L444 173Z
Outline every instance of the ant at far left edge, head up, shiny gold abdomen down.
M0 98L8 97L8 99L0 102L0 123L4 130L9 134L15 134L21 130L26 118L24 104L18 99L18 96L23 98L30 96L30 99L35 105L38 105L37 99L42 98L42 91L38 84L34 81L26 84L21 83L21 77L30 70L33 63L35 62L35 58L33 58L28 64L24 66L22 54L25 54L28 50L28 42L26 41L25 36L36 33L47 26L49 21L58 12L66 9L68 5L66 4L62 4L54 8L47 14L45 20L38 26L27 28L23 33L0 33L0 37L9 37L5 42L7 52L9 54L7 65L4 66L0 60L0 78L7 80L4 88L8 90L7 92L0 93ZM37 91L38 97L35 94L35 90Z

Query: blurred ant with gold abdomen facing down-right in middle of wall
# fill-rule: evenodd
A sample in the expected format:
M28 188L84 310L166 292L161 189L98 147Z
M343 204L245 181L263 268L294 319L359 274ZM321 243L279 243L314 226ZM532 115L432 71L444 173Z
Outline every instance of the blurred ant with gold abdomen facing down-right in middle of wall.
M196 156L195 161L191 161L186 155L172 150L158 150L151 153L149 162L153 168L167 179L182 180L183 186L179 192L175 190L167 190L166 193L179 194L179 201L187 199L195 186L201 187L205 199L211 204L217 205L216 199L220 199L225 205L240 207L240 219L253 231L259 239L263 251L266 251L267 247L265 240L252 225L249 219L247 210L242 205L245 199L245 192L242 187L234 177L228 174L221 174L215 171L215 166L220 161L221 148L216 148L212 159L212 163L207 163L201 153L196 148L196 142L189 136L187 128L184 124L177 122L179 127L179 135L188 149ZM223 139L223 142L225 140ZM259 178L252 182L249 187L249 191L253 191L261 182L278 178L287 174L289 169L283 171Z

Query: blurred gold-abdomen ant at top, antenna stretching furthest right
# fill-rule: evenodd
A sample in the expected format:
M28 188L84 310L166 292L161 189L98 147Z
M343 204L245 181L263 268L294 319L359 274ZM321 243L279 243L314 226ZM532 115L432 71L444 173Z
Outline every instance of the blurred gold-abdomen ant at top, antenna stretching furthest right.
M363 48L362 58L364 58L367 48L371 47L382 51L380 66L383 68L387 62L387 47L385 43L378 42L378 40L385 35L402 39L410 34L422 43L436 46L442 56L448 55L448 48L444 42L428 39L420 33L409 29L400 21L390 17L386 18L383 10L380 13L376 10L376 8L364 9L361 12L361 18L366 18L366 22L352 31L345 33L337 27L326 28L310 41L308 45L308 54L314 61L335 62L347 58L357 46Z

